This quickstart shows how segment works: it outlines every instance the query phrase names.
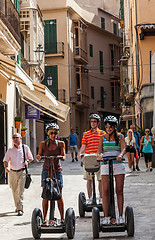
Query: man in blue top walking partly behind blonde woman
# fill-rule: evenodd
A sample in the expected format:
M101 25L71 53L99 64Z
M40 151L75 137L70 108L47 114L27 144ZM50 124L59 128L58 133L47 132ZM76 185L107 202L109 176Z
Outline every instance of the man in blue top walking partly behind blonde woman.
M137 152L138 152L138 156L139 156L139 157L136 157L136 149L135 149L135 151L134 151L134 157L136 158L136 170L137 170L137 171L140 171L140 168L139 168L138 164L139 164L139 159L140 159L140 151L139 151L139 148L140 148L140 139L141 139L141 137L140 137L139 132L136 132L136 131L135 131L135 125L134 125L134 124L132 124L132 125L130 126L130 129L133 131L133 135L134 135L134 138L135 138L135 140L136 140ZM135 171L135 165L133 165L133 171Z

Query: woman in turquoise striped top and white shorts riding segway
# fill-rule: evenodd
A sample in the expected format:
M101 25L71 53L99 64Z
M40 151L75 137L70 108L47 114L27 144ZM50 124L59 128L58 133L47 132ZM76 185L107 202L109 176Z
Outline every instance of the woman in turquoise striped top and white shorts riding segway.
M103 156L117 156L116 161L113 162L113 174L116 181L116 195L117 205L119 211L118 223L124 224L123 219L123 187L125 177L125 164L122 157L125 153L125 140L124 136L117 132L118 120L114 116L107 116L104 119L106 134L100 136L98 147L98 159ZM104 211L104 219L101 224L108 224L108 208L109 208L109 166L108 164L101 163L101 184L102 184L102 204Z

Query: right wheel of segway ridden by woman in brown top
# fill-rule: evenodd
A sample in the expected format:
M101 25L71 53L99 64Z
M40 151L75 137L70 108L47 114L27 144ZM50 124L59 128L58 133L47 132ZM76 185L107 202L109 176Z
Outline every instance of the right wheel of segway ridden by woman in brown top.
M65 229L69 239L74 238L75 234L75 212L73 208L68 208L65 214Z

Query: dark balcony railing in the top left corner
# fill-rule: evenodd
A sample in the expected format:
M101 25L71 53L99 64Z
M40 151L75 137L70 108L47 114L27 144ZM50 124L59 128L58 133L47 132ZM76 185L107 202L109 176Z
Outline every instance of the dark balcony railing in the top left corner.
M0 19L20 44L20 16L11 0L0 0Z

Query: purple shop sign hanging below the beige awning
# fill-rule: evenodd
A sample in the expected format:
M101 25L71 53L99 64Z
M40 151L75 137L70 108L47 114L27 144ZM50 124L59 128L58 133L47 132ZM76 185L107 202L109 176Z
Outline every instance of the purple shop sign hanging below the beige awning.
M36 104L37 107L40 107ZM26 104L25 105L25 119L40 119L40 111L33 106Z

